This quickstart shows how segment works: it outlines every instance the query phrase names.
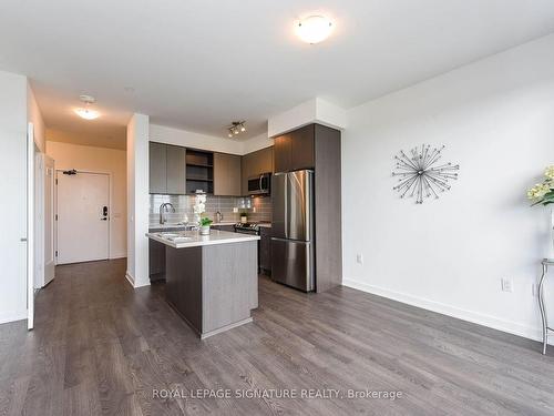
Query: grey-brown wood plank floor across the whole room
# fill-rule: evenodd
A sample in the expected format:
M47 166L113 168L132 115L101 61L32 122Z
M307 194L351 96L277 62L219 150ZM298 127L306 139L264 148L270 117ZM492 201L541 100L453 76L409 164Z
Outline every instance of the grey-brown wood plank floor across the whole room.
M163 284L133 291L124 272L124 261L61 266L37 297L34 331L0 325L0 415L554 415L554 348L542 356L535 342L347 287L306 295L267 278L253 324L201 342ZM178 397L226 388L402 396Z

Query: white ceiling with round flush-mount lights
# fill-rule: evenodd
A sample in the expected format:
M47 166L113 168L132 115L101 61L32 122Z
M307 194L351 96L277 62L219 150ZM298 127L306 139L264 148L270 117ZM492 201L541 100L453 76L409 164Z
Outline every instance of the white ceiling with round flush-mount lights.
M293 23L314 11L336 30L309 45ZM252 138L310 98L353 106L553 31L552 0L2 0L0 70L54 130L123 140L141 112L227 140L233 120ZM101 119L72 113L82 93Z

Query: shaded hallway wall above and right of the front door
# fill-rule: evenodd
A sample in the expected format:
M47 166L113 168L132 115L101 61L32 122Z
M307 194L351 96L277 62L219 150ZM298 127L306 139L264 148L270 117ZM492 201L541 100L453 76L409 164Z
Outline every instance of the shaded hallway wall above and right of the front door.
M111 174L110 258L126 256L126 152L47 141L55 169Z

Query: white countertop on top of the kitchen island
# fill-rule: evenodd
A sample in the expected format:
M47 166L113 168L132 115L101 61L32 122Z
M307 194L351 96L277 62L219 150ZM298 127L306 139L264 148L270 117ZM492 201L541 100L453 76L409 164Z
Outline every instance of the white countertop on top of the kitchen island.
M164 237L163 234L177 236L175 240ZM148 239L168 245L174 248L198 247L202 245L243 243L259 240L259 235L229 233L227 231L212 230L209 235L201 235L197 231L178 231L175 233L147 233Z

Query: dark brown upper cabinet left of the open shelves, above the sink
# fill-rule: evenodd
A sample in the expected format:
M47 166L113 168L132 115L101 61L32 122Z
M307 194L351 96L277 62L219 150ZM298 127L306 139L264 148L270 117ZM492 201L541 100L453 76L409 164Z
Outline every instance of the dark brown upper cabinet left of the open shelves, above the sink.
M186 149L150 142L150 193L186 193Z

